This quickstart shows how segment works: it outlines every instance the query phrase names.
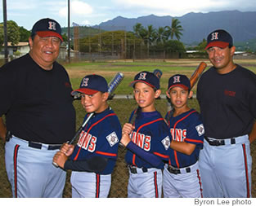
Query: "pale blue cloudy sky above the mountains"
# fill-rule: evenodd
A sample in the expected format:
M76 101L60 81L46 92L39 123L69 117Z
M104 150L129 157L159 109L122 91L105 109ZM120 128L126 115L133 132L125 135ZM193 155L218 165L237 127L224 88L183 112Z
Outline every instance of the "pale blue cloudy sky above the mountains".
M2 0L3 2L3 0ZM0 22L3 21L2 2ZM68 26L68 0L6 0L7 20L30 30L43 18ZM70 26L97 25L117 16L137 18L146 15L180 17L190 12L256 11L255 0L70 0Z

